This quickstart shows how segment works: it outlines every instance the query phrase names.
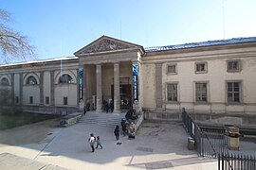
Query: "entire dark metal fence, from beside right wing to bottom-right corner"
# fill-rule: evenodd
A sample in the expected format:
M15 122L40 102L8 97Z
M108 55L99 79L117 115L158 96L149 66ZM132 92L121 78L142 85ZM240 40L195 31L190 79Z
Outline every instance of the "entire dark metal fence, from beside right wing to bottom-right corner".
M195 141L200 157L218 158L219 170L256 170L255 156L229 154L225 130L199 127L185 109L182 110L185 129Z

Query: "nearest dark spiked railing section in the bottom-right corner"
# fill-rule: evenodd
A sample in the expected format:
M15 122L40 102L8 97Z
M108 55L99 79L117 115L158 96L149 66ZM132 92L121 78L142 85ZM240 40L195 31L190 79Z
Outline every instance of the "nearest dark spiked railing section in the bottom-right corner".
M222 153L218 155L219 170L255 170L255 156Z

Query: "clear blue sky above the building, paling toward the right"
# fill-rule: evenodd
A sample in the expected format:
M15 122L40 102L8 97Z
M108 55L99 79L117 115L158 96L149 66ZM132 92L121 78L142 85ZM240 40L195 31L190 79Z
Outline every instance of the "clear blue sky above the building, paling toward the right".
M37 59L110 36L144 47L256 36L255 0L1 0Z

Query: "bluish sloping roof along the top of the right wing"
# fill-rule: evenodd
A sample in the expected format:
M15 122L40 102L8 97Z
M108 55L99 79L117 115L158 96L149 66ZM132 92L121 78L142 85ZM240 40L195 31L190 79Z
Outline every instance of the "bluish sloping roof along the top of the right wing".
M233 38L228 40L216 40L216 41L208 41L208 42L191 42L191 43L166 45L166 46L153 46L153 47L146 47L145 51L146 53L150 53L150 52L157 52L157 51L204 47L204 46L221 45L221 44L233 44L233 43L241 43L241 42L256 42L256 37Z

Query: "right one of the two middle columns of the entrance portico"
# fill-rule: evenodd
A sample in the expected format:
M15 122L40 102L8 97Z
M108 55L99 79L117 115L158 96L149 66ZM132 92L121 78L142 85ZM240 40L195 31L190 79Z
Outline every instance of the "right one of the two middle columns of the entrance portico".
M120 112L119 63L114 63L114 111Z

